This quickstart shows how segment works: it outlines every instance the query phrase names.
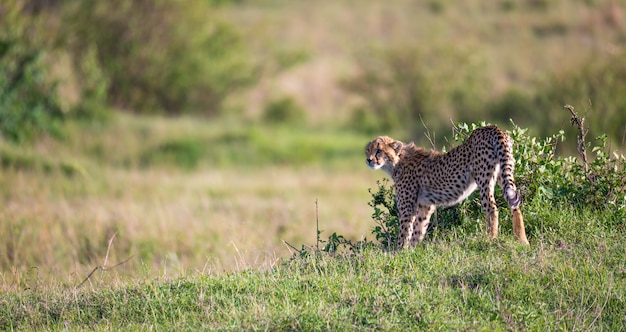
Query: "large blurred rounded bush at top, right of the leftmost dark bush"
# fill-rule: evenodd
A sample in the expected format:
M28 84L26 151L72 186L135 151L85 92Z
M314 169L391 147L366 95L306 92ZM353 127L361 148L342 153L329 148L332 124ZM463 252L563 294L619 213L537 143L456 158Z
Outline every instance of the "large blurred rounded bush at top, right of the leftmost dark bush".
M241 38L206 1L73 1L64 12L67 47L76 59L96 53L115 106L211 115L256 80Z

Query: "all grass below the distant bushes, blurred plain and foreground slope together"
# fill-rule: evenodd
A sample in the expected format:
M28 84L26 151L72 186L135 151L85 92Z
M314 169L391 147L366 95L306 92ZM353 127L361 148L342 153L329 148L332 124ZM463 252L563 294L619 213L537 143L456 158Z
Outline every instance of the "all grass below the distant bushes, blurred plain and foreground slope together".
M316 221L322 239L373 238L367 189L384 175L362 162L368 137L128 115L64 132L0 145L0 330L626 324L619 211L535 195L522 206L530 247L501 210L494 241L470 213L412 250L328 254L308 247Z

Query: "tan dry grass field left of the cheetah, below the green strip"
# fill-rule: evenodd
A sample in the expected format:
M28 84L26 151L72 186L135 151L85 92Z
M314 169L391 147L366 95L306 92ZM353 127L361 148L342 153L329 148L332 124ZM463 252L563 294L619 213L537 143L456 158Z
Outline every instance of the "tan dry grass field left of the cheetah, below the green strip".
M178 129L174 124L172 131ZM282 240L315 243L315 200L324 234L336 231L355 239L369 234L367 189L380 177L360 163L339 171L264 166L184 172L75 158L84 161L84 173L0 173L1 288L77 285L95 266L131 256L105 274L128 278L267 268L289 256Z

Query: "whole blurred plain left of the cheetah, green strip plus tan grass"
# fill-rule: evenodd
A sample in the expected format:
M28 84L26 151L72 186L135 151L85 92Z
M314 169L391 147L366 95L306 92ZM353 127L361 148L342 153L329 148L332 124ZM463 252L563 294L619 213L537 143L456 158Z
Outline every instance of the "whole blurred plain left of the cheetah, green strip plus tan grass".
M77 283L130 257L115 275L268 268L289 255L283 240L314 242L316 220L369 233L367 189L382 175L361 160L366 137L132 116L74 125L64 141L0 146L3 288ZM198 144L193 165L187 141Z

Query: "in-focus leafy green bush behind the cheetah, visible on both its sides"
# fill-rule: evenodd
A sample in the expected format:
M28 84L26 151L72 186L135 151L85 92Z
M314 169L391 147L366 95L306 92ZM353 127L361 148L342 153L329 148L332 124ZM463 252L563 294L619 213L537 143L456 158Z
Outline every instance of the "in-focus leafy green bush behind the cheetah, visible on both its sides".
M454 128L454 140L464 141L471 132L485 123L458 123ZM565 139L560 131L546 139L538 139L527 134L513 124L509 132L514 141L515 180L522 193L526 206L568 205L579 211L596 211L607 216L610 224L606 228L622 229L626 227L626 157L612 153L606 146L606 136L597 139L597 144L590 145L595 153L593 161L584 164L575 157L558 157L555 154L557 142ZM586 143L585 143L586 144ZM348 248L359 251L364 247L378 246L385 250L395 248L399 228L399 217L393 185L388 179L377 182L375 190L370 189L371 200L368 205L373 209L372 219L375 226L372 235L376 242L364 241L353 243L342 235L333 233L322 251L335 253ZM502 195L496 195L498 206L506 206ZM431 224L440 227L458 226L459 219L476 220L484 218L478 195L474 193L465 202L453 206L438 208ZM463 230L461 230L463 231ZM319 234L318 234L319 236ZM300 255L303 254L300 251Z

